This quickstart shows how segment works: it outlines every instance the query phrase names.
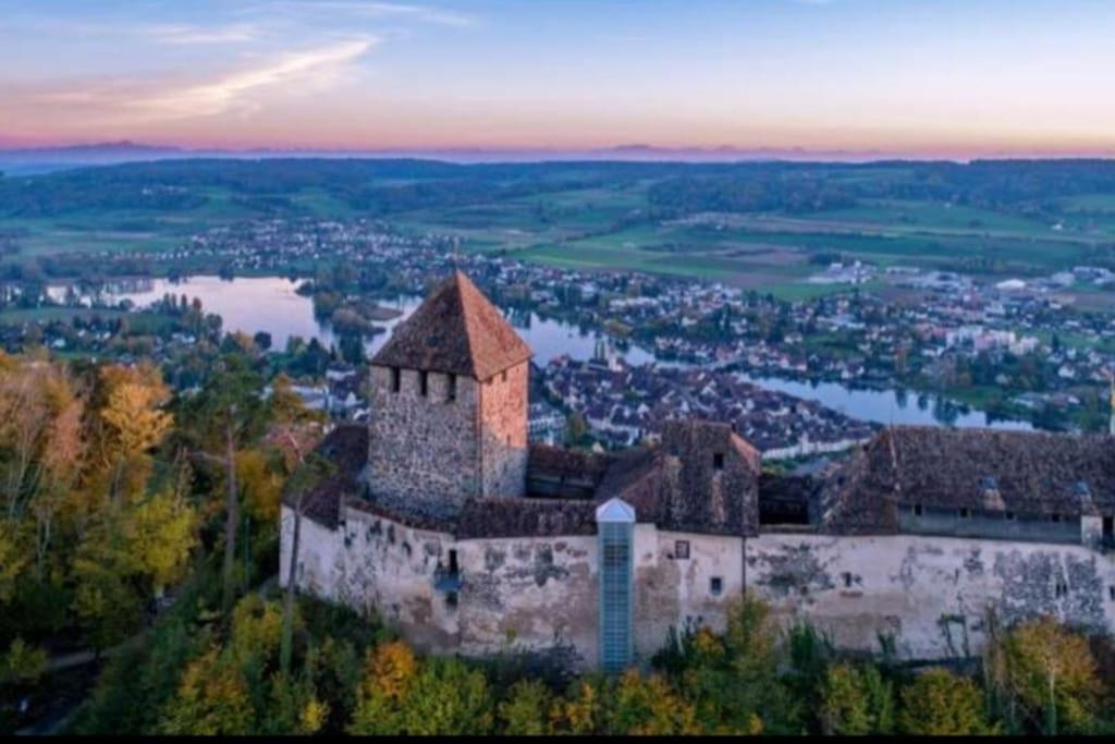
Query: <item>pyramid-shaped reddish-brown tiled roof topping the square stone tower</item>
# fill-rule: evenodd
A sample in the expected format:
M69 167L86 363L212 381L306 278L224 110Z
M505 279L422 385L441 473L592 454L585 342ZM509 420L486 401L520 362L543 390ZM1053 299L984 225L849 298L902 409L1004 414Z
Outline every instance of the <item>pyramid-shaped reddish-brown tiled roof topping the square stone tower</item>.
M371 364L487 379L526 361L531 347L460 271L396 327Z

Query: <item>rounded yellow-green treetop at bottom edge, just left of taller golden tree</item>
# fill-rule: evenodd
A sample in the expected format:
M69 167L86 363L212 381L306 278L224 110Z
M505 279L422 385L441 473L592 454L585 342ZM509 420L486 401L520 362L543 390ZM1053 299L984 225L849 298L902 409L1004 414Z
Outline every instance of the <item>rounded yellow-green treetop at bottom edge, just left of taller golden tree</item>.
M915 736L973 736L993 733L983 696L968 677L934 667L902 690L899 726Z

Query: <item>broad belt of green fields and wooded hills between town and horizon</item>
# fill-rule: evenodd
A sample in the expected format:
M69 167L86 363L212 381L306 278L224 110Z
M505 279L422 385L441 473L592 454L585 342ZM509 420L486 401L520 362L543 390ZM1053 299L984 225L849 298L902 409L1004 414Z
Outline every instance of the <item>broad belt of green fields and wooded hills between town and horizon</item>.
M1036 191L1030 172L1043 170ZM0 267L48 273L55 259L142 255L274 218L375 218L403 233L455 236L463 251L786 298L846 289L808 281L834 261L986 278L1115 264L1115 168L1089 162L154 163L0 180Z

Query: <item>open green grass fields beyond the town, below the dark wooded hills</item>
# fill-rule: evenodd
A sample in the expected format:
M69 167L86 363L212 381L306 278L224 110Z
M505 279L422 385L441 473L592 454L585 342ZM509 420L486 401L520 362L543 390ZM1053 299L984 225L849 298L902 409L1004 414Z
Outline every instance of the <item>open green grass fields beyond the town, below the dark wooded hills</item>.
M895 170L880 166L844 173L841 178L894 178ZM456 235L467 251L507 251L523 260L576 270L646 271L724 281L787 299L847 291L847 287L805 282L817 270L809 263L816 253L844 253L880 267L959 268L969 259L983 259L988 265L980 270L995 279L1051 273L1087 262L1097 244L1115 241L1115 194L1061 200L1063 231L1051 230L1045 219L929 200L883 199L862 200L845 210L731 214L717 216L717 224L700 224L647 219L652 183L618 181L493 203L414 210L386 221L414 234ZM83 251L163 250L216 225L272 215L263 200L245 201L221 186L191 189L205 202L190 210L124 209L0 219L0 232L22 234L17 239L20 252L3 261ZM363 214L321 187L274 196L288 200L298 216ZM183 268L196 268L192 261L184 263ZM1087 302L1099 303L1107 294L1087 298Z

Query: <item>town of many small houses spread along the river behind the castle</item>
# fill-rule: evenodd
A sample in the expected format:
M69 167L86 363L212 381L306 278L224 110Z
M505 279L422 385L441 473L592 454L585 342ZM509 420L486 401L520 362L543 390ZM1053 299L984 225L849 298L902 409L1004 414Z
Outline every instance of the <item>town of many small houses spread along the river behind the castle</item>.
M135 269L130 257L100 258L106 277L117 264L122 272ZM458 267L476 277L513 321L537 313L607 339L593 357L607 374L621 375L611 394L600 387L605 373L590 364L593 359L535 359L544 381L536 392L564 414L583 417L605 446L637 442L689 409L731 422L765 451L784 456L836 451L890 423L878 416L856 421L855 410L764 392L740 375L933 395L944 422L975 409L989 421L1043 428L1108 426L1115 319L1077 309L1057 291L1072 281L1107 281L1108 272L1086 267L1047 281L987 283L890 268L878 272L885 282L872 290L850 281L837 293L786 301L717 282L583 272L518 261L514 254L462 252L452 235L407 235L377 221L279 219L206 231L181 247L151 252L145 261L148 269L178 267L172 277L188 277L183 267L191 265L229 279L304 276L299 292L313 299L322 325L333 321L341 329L342 319L355 318L348 320L352 331L340 334L341 348L331 354L312 338L292 339L290 349L272 351L301 355L288 371L300 377L300 389L313 405L341 418L366 410L360 387L341 381L363 358L356 339L367 341L382 331L384 318L392 317L377 316L381 309L375 298L418 297L432 279ZM54 265L65 268L66 257ZM191 384L187 370L202 364L195 357L221 344L220 319L206 318L205 309L194 305L184 312L178 302L113 303L100 290L114 282L127 286L104 278L9 281L0 294L4 307L14 311L11 317L22 311L29 319L0 327L4 347L38 344L125 361L151 356L177 370L172 379ZM234 282L227 287L235 291ZM181 289L188 300L188 282ZM67 317L67 307L83 311ZM255 340L260 351L270 348L265 335ZM623 357L630 347L644 350L640 364ZM313 361L306 361L307 352ZM687 366L716 375L705 379L683 371Z

